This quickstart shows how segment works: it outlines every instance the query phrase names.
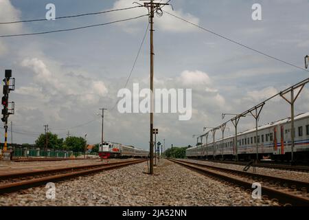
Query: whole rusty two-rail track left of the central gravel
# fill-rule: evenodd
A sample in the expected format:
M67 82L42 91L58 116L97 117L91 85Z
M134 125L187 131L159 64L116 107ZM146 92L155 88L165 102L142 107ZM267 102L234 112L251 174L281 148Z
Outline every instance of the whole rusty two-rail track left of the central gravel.
M6 173L0 175L0 195L18 191L25 188L32 188L46 184L47 182L56 182L63 179L89 175L102 170L111 170L121 168L131 164L145 162L146 159L126 160L124 162L113 162L109 164L93 164L87 166L75 166L66 168L56 168L49 170L34 170L19 173Z

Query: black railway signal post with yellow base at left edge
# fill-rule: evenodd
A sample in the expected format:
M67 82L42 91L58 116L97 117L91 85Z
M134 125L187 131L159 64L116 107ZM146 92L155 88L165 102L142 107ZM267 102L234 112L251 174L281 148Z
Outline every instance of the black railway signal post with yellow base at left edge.
M5 78L3 79L3 97L1 99L1 104L3 105L2 109L2 122L4 122L4 147L3 147L3 155L4 159L10 159L10 152L8 152L8 117L9 115L14 114L14 102L9 102L9 94L10 91L14 91L15 89L15 78L12 78L12 85L10 85L10 80L12 78L12 69L5 69ZM11 104L11 109L9 109L9 104Z

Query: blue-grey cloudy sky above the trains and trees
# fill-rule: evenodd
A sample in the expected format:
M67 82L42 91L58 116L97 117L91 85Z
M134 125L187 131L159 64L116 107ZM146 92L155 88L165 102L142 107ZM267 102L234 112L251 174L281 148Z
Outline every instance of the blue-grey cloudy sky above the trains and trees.
M163 0L162 2L165 2ZM0 22L44 19L45 6L54 3L56 17L126 8L133 1L104 0L0 0ZM172 0L163 10L238 41L255 50L304 67L309 54L309 1L205 1ZM253 21L254 3L262 5L262 20ZM135 4L136 5L136 4ZM24 34L77 28L108 23L147 14L134 8L56 21L0 24L0 35ZM155 113L157 140L165 148L194 145L194 134L203 127L222 124L222 113L242 113L308 78L309 73L252 50L204 32L163 13L155 16L155 88L192 89L192 118L180 121L178 113ZM36 36L0 38L0 72L12 69L16 89L10 93L15 102L14 143L34 143L44 132L59 137L87 134L87 142L101 140L100 108L104 114L104 140L149 147L149 114L119 113L117 92L124 88L141 41L148 17L95 28ZM141 53L128 82L140 88L150 85L150 43L146 36ZM295 114L309 111L309 89L304 88L295 103ZM266 102L259 124L287 118L290 107L282 98ZM252 117L240 120L238 131L255 126ZM231 123L226 135L233 134ZM220 137L217 133L216 138ZM0 129L1 142L4 141ZM10 133L8 135L10 142Z

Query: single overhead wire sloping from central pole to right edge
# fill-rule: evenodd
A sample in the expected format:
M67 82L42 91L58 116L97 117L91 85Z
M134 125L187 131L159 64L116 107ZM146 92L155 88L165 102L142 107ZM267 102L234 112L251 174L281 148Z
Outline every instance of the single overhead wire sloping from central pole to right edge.
M181 21L185 21L186 23L189 23L190 25L194 25L196 28L200 28L201 30L204 30L205 32L209 32L209 33L211 33L211 34L214 34L214 35L216 35L216 36L219 36L219 37L222 38L222 39L225 39L225 40L227 40L227 41L230 41L231 43L235 43L235 44L240 45L240 46L242 46L242 47L245 47L245 48L247 48L247 49L249 49L249 50L252 50L252 51L254 51L254 52L257 52L258 54L262 54L262 55L264 55L264 56L266 56L266 57L268 57L268 58L272 58L272 59L274 59L274 60L276 60L276 61L279 61L279 62L281 62L281 63L284 63L284 64L286 64L286 65L290 65L291 67L295 67L295 68L297 68L297 69L301 69L301 70L304 70L304 71L306 71L306 72L309 72L308 69L304 69L303 67L299 67L299 66L297 66L297 65L294 65L293 63L288 63L288 62L283 61L283 60L281 60L281 59L279 59L279 58L276 58L275 56L271 56L271 55L265 54L264 52L260 52L259 50L255 50L255 49L253 49L252 47L249 47L249 46L247 46L247 45L244 45L244 44L242 44L242 43L239 43L238 41L233 41L232 39L229 39L229 38L227 38L226 36L223 36L222 34L217 34L216 32L213 32L213 31L211 31L211 30L208 30L207 28L203 28L201 25L198 25L198 24L196 24L196 23L192 23L191 21L187 21L186 19L183 19L183 18L181 18L181 17L178 17L178 16L176 16L175 14L172 14L172 13L170 13L170 12L166 12L165 10L163 10L163 12L165 12L166 14L170 14L172 17L175 17L176 19L180 19Z

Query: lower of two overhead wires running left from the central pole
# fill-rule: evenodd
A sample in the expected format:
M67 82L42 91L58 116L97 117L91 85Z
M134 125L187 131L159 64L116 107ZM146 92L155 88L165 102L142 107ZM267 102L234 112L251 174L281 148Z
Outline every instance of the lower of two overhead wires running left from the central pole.
M122 21L130 21L130 20L134 20L134 19L139 19L141 17L146 17L148 16L148 14L144 14L138 17L133 17L130 19L122 19L122 20L118 20L118 21L111 21L108 23L100 23L97 25L87 25L87 26L83 26L83 27L78 27L78 28L69 28L69 29L61 29L61 30L52 30L52 31L47 31L47 32L36 32L36 33L27 33L27 34L8 34L8 35L0 35L0 38L5 38L5 37L12 37L12 36L31 36L31 35L38 35L38 34L50 34L50 33L55 33L55 32L69 32L69 31L73 31L73 30L80 30L80 29L85 29L85 28L93 28L93 27L98 27L98 26L103 26L103 25L110 25L113 23L119 23Z

